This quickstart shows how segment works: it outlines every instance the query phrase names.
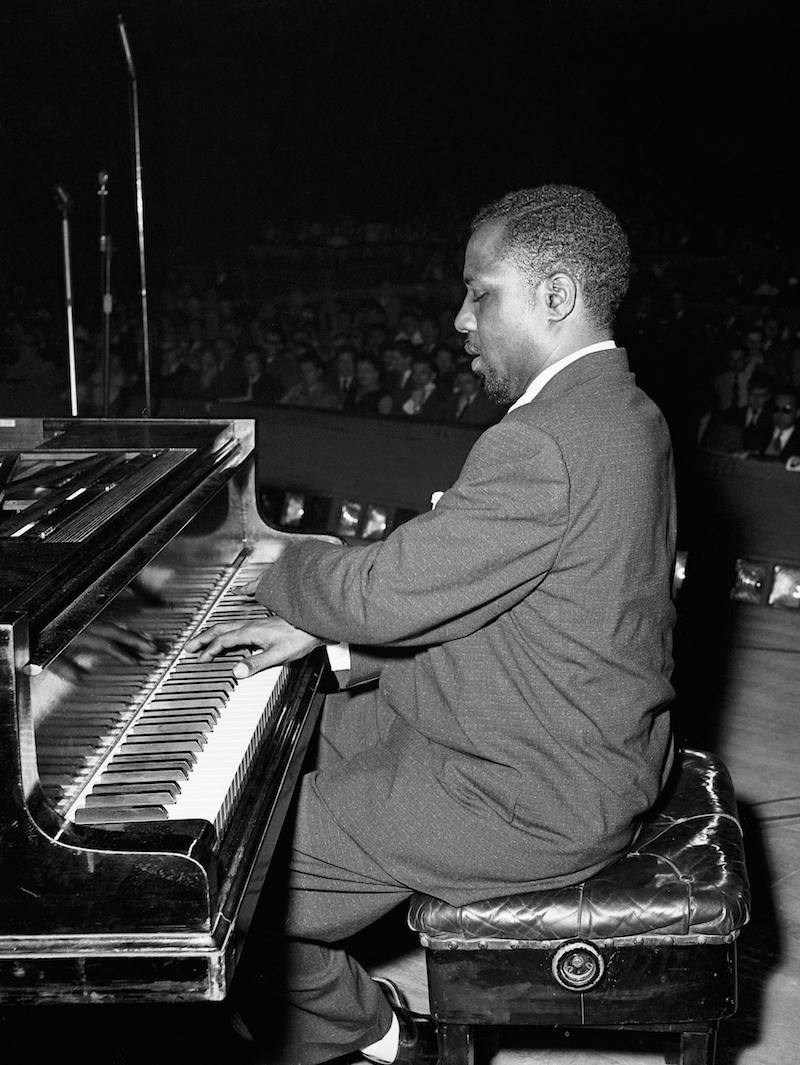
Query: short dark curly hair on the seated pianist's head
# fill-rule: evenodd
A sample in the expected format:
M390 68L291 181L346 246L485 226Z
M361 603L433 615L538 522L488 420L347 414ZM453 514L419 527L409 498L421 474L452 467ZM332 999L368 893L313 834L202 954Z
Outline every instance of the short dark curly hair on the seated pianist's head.
M569 274L598 325L610 326L627 292L631 248L619 219L594 193L574 185L541 185L508 193L481 208L471 231L500 222L500 250L513 258L532 286Z

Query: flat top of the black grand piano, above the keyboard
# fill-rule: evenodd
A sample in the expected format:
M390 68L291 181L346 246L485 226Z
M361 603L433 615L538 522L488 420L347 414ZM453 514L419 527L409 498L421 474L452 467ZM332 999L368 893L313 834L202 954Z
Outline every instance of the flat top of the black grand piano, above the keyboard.
M0 612L49 660L252 454L251 421L0 420Z

